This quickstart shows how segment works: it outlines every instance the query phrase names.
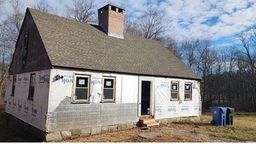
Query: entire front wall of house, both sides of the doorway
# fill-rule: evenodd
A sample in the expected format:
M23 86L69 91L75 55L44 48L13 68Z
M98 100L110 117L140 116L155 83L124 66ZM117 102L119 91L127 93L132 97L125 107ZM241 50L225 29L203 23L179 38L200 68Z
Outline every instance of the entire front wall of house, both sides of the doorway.
M55 81L54 77L58 74L63 75L63 79ZM90 103L73 103L75 74L90 75ZM116 77L115 102L101 103L103 76ZM50 79L46 132L138 122L141 110L141 81L152 82L150 113L154 118L198 117L201 114L198 81L68 69L52 69ZM179 101L171 101L171 81L179 82ZM189 101L184 100L185 82L193 83L192 99Z

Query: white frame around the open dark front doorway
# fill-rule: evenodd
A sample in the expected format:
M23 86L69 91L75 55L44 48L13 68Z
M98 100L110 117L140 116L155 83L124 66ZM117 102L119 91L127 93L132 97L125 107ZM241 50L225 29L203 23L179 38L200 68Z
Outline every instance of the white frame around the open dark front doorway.
M150 116L155 113L155 78L147 76L139 76L139 97L138 97L138 117L141 116L141 85L142 81L150 81Z

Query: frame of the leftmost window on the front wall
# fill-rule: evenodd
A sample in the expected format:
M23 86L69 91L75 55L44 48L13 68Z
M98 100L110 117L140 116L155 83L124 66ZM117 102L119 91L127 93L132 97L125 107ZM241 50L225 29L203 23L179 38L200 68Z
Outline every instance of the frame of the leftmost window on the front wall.
M88 81L87 81L87 86L88 87L76 87L76 77L87 77ZM90 100L90 82L91 82L91 77L90 75L79 75L79 74L75 74L75 81L74 81L74 96L73 96L73 102L89 102ZM80 100L76 100L76 89L88 89L88 93L87 93L87 99L80 99Z

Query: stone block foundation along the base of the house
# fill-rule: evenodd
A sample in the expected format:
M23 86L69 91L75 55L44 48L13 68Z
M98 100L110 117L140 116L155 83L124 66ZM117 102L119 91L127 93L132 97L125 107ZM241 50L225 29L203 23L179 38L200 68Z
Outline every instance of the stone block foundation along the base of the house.
M158 123L168 124L173 122L181 122L181 121L199 121L199 117L178 117L178 118L164 118L156 120ZM8 124L17 124L21 125L22 129L30 132L31 134L35 134L38 138L41 138L42 141L56 141L68 138L78 138L84 137L87 135L106 133L112 131L120 131L125 129L131 129L133 127L137 127L138 122L135 123L126 123L126 124L114 124L114 125L106 125L106 126L98 126L98 127L90 127L85 129L75 129L75 130L65 130L65 131L56 131L56 132L44 132L36 127L22 121L19 118L16 118L10 114L5 113L4 123Z

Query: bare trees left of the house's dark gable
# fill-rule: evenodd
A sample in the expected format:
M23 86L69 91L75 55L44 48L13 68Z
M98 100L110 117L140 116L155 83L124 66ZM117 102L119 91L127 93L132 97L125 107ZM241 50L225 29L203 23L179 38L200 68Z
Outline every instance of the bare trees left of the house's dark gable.
M6 14L6 19L2 21L0 26L1 95L5 91L8 69L23 20L23 13L21 12L23 5L20 1L10 0L9 2L12 6L12 12Z

